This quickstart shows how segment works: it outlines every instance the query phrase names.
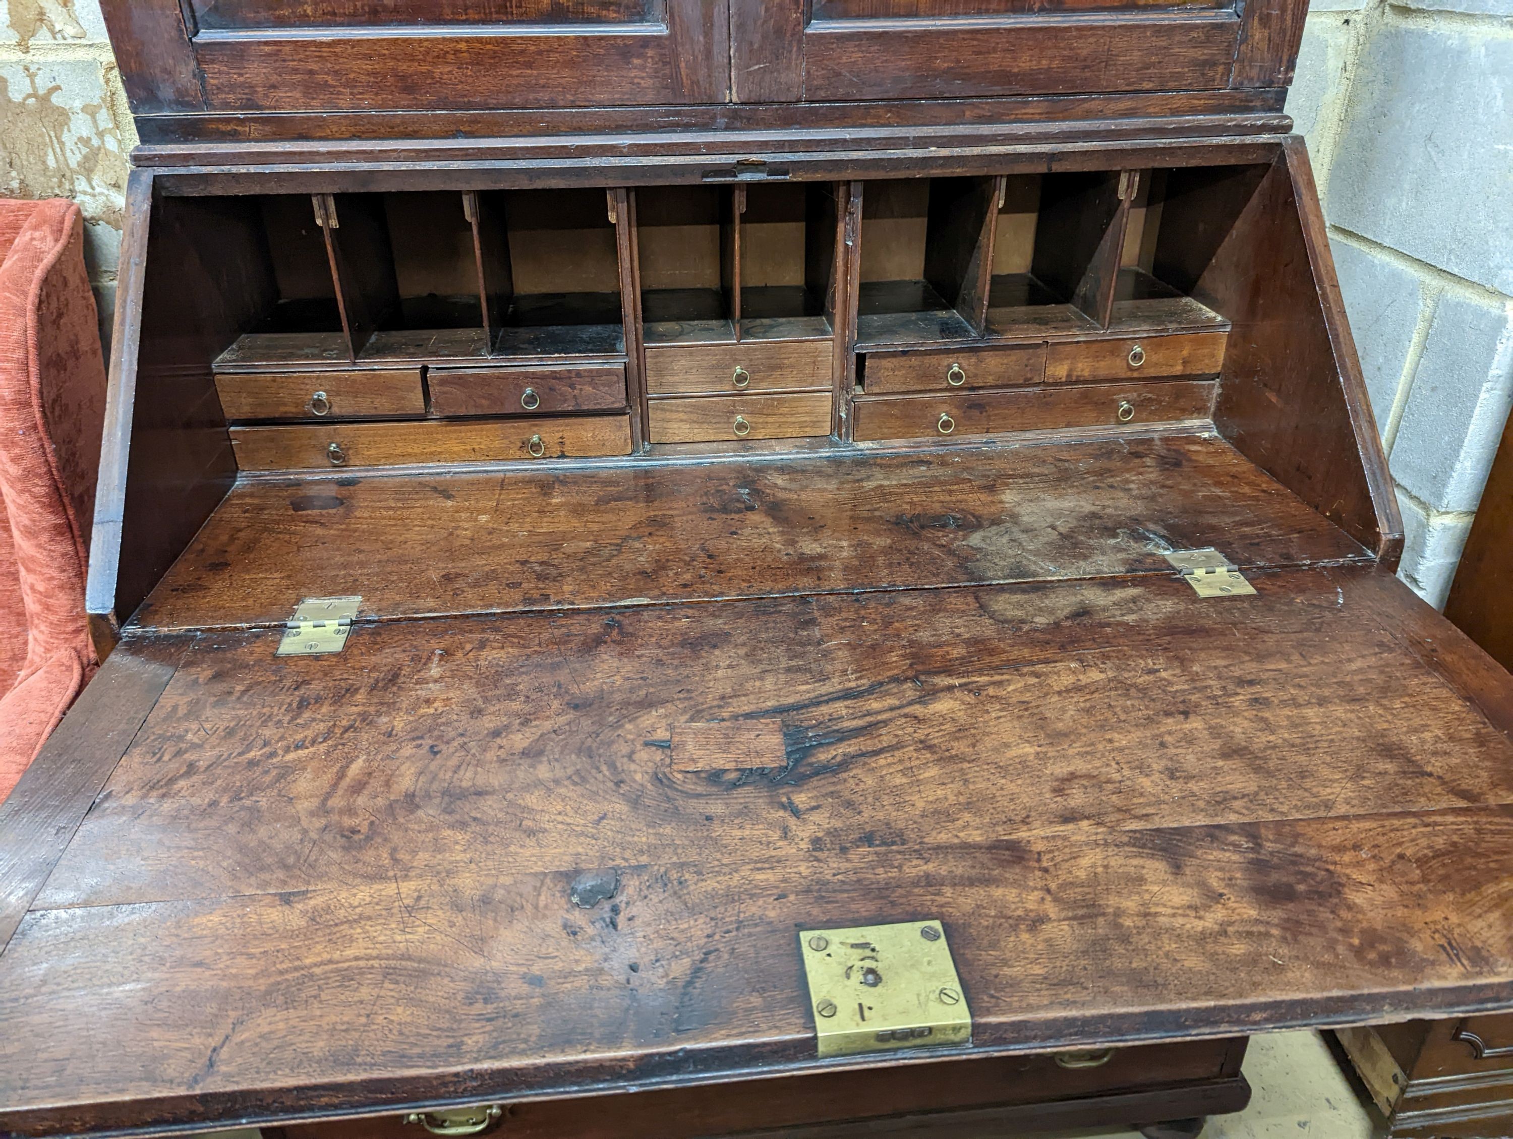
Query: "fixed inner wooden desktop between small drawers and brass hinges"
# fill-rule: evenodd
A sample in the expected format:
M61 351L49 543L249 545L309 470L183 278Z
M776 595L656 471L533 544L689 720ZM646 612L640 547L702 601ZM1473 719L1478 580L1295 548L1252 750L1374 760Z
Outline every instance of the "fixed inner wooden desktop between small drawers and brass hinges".
M1365 555L1203 437L354 473L238 486L136 620L281 623L307 596L396 617L1167 573L1165 549L1201 546L1242 566Z

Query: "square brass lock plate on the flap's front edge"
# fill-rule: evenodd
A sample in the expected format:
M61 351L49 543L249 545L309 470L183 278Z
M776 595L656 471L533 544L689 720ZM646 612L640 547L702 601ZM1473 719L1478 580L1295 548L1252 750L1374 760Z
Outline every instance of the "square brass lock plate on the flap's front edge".
M971 1044L971 1012L938 921L799 933L820 1059Z

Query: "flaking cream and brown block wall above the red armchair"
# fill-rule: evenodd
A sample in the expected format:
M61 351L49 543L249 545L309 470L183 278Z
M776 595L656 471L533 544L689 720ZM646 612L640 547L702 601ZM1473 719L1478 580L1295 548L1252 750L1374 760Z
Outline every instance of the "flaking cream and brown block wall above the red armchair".
M0 0L0 194L76 198L109 340L136 132L97 0Z

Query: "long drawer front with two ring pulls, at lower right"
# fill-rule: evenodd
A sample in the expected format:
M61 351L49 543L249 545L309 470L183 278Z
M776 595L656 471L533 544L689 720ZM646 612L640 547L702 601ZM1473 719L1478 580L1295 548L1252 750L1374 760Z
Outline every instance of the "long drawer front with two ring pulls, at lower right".
M856 401L853 434L858 440L950 439L994 431L1139 427L1207 419L1215 387L1215 381L1206 380L868 398Z

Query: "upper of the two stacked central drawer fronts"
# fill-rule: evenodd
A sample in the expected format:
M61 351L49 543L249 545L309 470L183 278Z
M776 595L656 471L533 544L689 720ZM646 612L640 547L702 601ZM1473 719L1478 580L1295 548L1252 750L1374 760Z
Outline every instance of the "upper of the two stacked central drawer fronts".
M747 340L646 349L646 390L651 395L829 386L829 340Z

